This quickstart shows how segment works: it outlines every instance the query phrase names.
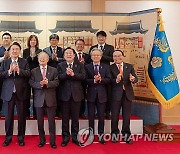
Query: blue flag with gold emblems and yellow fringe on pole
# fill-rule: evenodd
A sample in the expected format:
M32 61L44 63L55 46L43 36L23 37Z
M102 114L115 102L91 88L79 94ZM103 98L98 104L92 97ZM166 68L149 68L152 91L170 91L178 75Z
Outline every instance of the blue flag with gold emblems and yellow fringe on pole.
M169 109L180 103L180 87L160 15L148 66L147 81L154 96L164 108Z

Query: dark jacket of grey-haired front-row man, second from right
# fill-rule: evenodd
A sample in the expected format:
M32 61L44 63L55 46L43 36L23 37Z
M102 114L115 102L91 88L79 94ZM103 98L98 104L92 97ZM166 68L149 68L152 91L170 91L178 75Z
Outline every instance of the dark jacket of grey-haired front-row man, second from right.
M107 85L110 84L111 74L109 65L104 63L100 64L99 73L101 74L101 83L94 83L94 66L93 63L90 63L85 66L86 70L86 82L88 85L87 88L87 101L95 102L96 95L100 103L107 102Z

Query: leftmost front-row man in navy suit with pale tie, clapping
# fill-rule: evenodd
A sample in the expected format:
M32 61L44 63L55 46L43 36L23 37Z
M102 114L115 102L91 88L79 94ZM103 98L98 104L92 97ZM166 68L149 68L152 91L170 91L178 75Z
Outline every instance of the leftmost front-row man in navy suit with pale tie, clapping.
M2 62L0 77L3 78L1 98L5 106L5 131L6 139L3 146L8 146L12 142L14 106L18 115L18 141L20 146L24 146L25 136L25 104L27 78L30 76L29 66L25 59L20 58L21 46L14 42L10 46L10 57Z

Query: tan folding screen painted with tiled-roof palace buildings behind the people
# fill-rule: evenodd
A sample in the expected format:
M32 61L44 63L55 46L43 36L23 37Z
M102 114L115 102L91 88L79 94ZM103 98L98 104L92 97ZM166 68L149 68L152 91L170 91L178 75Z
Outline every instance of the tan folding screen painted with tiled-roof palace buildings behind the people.
M107 33L107 43L125 53L125 61L131 63L139 81L134 85L137 100L152 101L154 95L148 89L146 72L157 24L156 9L119 14L80 13L0 13L0 34L10 32L13 40L27 47L27 38L35 34L40 48L49 46L49 36L60 36L59 46L74 47L78 38L85 40L85 52L96 44L96 32ZM0 42L1 43L1 42Z

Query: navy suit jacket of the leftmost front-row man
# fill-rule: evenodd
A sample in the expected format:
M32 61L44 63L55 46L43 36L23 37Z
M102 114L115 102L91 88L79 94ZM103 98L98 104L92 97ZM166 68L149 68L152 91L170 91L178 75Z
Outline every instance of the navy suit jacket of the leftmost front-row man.
M8 70L11 64L11 58L2 62L0 67L0 77L3 78L3 86L1 98L4 101L10 101L13 93L14 84L16 87L16 93L19 100L26 99L27 78L30 76L30 70L27 61L24 58L18 58L18 65L20 68L19 75L16 73L15 77L12 73L10 76Z

